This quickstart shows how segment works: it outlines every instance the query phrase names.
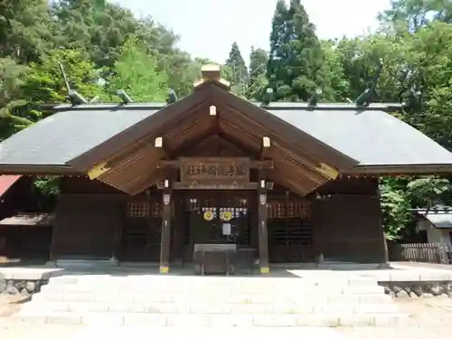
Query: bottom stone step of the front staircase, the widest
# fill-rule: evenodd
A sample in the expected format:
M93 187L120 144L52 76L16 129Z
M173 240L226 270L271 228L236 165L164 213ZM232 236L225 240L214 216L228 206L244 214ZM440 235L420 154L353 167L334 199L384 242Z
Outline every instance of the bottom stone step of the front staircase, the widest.
M406 315L317 313L304 315L200 315L200 314L139 314L139 313L75 313L22 311L12 320L25 325L155 325L155 326L397 326L404 324Z

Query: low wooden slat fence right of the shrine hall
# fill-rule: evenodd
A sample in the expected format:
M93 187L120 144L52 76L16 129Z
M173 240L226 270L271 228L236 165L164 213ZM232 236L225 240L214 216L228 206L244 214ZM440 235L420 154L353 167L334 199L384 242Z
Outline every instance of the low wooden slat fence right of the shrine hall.
M389 244L391 261L452 264L452 247L440 243Z

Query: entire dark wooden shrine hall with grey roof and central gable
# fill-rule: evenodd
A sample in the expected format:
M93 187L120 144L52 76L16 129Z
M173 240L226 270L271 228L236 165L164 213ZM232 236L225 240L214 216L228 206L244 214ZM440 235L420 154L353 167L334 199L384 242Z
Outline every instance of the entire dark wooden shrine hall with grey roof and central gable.
M253 103L213 66L174 102L54 109L0 145L0 174L60 177L56 262L385 263L378 177L452 172L389 104Z

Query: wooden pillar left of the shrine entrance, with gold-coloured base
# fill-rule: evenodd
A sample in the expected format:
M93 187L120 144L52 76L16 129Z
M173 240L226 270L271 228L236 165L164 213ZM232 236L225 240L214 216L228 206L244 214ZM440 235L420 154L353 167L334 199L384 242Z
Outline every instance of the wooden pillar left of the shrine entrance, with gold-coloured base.
M160 240L160 273L169 272L171 249L171 199L170 181L165 180L162 208L162 235Z

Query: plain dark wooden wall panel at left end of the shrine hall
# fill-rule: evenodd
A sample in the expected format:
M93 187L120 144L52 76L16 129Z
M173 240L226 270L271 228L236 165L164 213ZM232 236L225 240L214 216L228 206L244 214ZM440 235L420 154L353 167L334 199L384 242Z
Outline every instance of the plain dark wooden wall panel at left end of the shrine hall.
M127 195L84 177L61 179L52 259L110 259L124 221Z

